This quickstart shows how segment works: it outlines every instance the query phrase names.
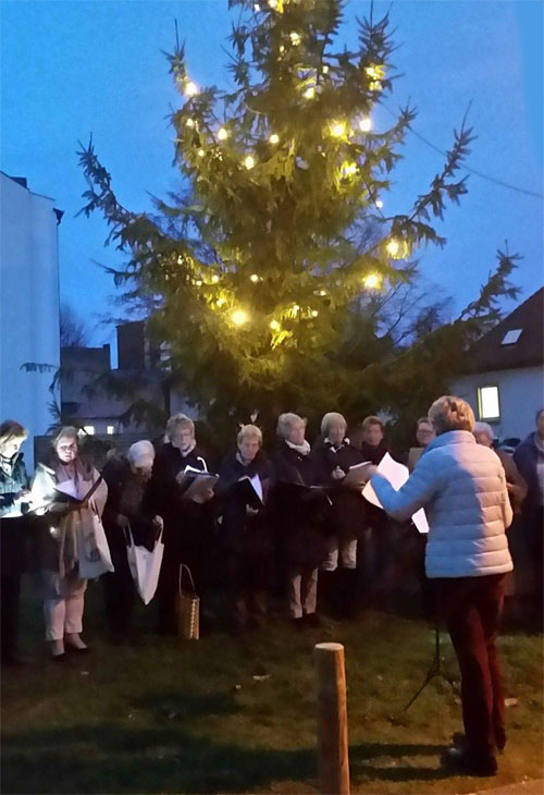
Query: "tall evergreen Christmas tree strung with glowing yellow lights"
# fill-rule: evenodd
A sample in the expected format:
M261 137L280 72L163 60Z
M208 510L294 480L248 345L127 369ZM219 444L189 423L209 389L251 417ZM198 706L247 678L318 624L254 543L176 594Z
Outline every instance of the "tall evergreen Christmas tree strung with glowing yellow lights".
M348 51L337 44L343 4L230 0L239 11L232 91L200 87L176 44L168 59L183 187L156 200L156 213L118 203L92 142L79 152L83 211L101 210L128 255L116 283L146 306L201 417L226 418L228 433L256 412L267 425L282 411L391 405L398 346L376 337L376 291L410 282L417 252L445 243L432 218L467 189L462 125L429 192L406 215L383 212L415 111L374 130L395 77L388 19L361 21Z

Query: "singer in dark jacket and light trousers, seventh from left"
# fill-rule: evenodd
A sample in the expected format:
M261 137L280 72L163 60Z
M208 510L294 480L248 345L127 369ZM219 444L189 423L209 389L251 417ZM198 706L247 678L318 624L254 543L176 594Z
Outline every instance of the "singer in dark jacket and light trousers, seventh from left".
M361 540L368 504L360 490L344 485L349 468L366 461L360 450L349 443L346 431L347 423L342 414L325 414L321 420L322 441L314 448L325 482L331 487L332 501L332 536L319 575L320 600L322 594L329 598L338 617L354 615L357 609L357 547L359 559L362 559Z

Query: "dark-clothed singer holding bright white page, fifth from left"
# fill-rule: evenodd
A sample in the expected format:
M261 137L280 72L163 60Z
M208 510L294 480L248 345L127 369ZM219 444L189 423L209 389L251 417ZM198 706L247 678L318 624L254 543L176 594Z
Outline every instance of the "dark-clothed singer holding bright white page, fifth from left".
M265 512L272 465L261 447L260 428L243 426L236 450L220 466L215 487L220 560L235 633L262 625L272 586L274 545Z

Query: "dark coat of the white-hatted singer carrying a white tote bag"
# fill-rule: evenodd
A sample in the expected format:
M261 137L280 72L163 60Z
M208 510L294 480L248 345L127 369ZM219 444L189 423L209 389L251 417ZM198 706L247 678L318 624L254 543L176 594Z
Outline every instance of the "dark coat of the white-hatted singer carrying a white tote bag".
M131 533L135 543L144 545L152 550L157 537L157 528L152 522L156 513L146 505L148 484L141 484L131 470L126 458L109 461L102 477L108 485L108 500L102 513L102 524L110 549L124 549L126 539L124 530L118 525L118 516L126 516L131 523Z

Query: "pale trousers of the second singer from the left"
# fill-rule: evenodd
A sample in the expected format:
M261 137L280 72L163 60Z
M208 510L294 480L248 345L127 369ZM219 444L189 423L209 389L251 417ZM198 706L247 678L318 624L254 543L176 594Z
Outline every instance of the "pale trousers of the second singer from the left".
M83 611L87 580L77 577L60 579L54 572L45 571L44 615L46 640L62 640L64 635L83 631Z

